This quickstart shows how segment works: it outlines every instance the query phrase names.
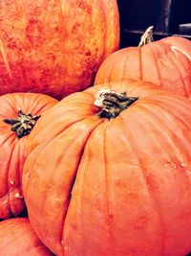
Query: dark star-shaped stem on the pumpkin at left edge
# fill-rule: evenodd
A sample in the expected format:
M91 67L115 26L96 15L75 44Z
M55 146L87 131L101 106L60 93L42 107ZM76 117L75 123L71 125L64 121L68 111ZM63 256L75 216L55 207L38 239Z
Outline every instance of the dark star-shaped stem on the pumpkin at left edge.
M18 117L16 119L8 118L4 119L4 122L11 125L11 130L15 131L16 137L21 138L30 134L40 115L32 116L31 113L24 114L20 109L18 109L17 115Z

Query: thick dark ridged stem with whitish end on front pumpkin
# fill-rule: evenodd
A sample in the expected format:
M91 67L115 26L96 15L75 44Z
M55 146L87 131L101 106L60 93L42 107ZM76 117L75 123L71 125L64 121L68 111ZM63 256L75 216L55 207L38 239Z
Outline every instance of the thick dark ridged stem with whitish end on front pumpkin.
M126 92L117 93L110 89L101 89L96 94L95 105L101 107L97 113L100 118L116 118L128 106L138 100L138 97L127 97Z

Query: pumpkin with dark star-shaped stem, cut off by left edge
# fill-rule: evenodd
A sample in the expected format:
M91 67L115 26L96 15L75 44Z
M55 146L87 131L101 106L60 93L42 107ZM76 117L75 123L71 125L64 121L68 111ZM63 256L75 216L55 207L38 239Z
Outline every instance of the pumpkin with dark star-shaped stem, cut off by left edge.
M21 175L28 134L40 115L56 103L52 97L37 93L0 96L0 219L25 210Z

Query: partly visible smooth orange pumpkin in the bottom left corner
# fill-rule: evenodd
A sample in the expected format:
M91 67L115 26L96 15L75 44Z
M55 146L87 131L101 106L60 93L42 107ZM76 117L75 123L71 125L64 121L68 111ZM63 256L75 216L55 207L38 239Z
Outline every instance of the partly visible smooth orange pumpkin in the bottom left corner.
M0 222L0 256L53 256L40 242L28 218Z

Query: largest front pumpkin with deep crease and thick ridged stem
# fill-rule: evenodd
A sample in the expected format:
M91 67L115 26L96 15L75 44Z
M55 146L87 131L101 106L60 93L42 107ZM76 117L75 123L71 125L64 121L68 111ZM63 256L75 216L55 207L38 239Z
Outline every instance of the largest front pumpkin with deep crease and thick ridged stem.
M43 244L59 256L191 251L190 110L185 97L129 80L47 111L22 179Z

